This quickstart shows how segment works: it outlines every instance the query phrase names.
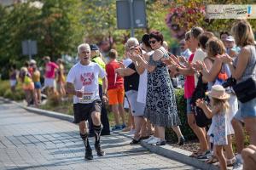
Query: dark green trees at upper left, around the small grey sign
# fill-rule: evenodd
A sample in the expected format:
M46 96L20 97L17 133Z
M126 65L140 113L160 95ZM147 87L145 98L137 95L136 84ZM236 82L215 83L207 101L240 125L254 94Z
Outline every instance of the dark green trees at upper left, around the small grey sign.
M83 42L80 1L44 0L43 8L28 3L15 3L13 7L0 5L0 65L3 78L7 78L9 65L18 68L28 59L22 55L21 42L31 39L38 42L38 55L34 59L42 64L42 57L53 59L61 54L76 54Z

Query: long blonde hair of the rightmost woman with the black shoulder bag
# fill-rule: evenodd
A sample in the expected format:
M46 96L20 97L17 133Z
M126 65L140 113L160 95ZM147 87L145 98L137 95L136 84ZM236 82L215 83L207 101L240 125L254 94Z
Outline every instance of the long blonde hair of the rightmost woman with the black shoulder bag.
M235 37L237 46L254 45L253 29L247 20L239 20L232 27L232 34Z

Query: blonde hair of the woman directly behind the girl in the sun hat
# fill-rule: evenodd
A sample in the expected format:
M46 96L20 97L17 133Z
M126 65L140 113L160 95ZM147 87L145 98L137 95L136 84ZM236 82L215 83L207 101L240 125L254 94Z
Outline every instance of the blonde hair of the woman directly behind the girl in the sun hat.
M224 43L217 37L210 38L207 41L206 48L208 57L215 57L217 54L224 54L226 50Z

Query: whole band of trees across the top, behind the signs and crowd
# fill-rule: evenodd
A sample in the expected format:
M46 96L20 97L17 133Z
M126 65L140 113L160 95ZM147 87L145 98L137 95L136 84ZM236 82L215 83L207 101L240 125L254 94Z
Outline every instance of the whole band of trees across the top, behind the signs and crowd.
M22 55L23 40L38 42L38 54L33 59L39 64L45 55L54 60L62 54L75 56L81 42L98 43L105 40L109 42L109 48L123 53L130 31L117 29L115 0L41 0L42 8L31 5L33 2L35 0L28 0L28 3L15 3L11 7L0 5L0 68L3 77L7 77L9 65L15 63L20 67L28 59L28 56ZM230 31L233 20L205 20L202 11L206 3L249 4L253 0L145 2L148 27L136 29L135 37L140 39L146 32L159 30L166 42L173 45L177 43L175 39L178 35L171 29L170 14L177 8L180 8L178 15L181 16L173 17L172 24L176 23L185 31L191 26L202 26L209 31ZM249 21L255 29L256 20Z

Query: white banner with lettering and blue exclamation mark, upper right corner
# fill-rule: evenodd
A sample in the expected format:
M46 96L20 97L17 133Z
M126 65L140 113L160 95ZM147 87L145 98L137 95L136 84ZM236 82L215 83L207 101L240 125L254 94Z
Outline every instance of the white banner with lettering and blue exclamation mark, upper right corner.
M256 4L254 5L207 5L208 19L256 19Z

